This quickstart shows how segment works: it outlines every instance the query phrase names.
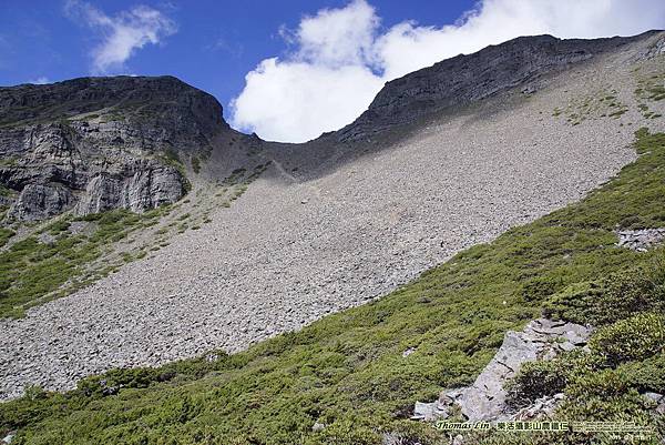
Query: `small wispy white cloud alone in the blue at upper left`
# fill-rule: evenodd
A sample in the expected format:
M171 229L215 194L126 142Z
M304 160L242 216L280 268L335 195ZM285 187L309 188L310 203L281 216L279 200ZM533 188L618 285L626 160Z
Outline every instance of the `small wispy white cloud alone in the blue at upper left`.
M102 42L91 53L94 73L124 70L125 61L136 50L149 43L158 44L177 30L174 21L161 11L145 6L137 6L110 17L90 3L69 0L65 3L65 12L92 28L102 38Z

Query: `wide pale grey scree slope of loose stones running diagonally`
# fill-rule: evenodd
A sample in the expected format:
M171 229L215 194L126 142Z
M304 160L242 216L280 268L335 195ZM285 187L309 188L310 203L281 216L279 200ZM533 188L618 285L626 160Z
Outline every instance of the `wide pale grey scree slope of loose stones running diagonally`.
M637 128L663 131L663 119L637 111L630 68L623 55L575 68L533 94L442 117L307 182L274 163L201 230L24 318L0 321L0 397L28 384L70 388L115 366L243 350L580 200L635 159ZM576 125L552 115L604 84L627 112ZM483 113L500 101L504 111Z

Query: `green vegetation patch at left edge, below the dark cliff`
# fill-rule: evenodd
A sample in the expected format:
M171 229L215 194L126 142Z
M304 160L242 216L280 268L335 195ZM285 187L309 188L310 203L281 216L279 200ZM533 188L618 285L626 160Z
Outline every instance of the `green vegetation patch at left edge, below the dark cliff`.
M139 215L115 210L79 219L66 216L0 252L0 316L21 316L34 304L63 296L112 272L113 267L91 270L90 265L110 243L155 222L162 211ZM93 230L73 234L69 229L75 221L91 223ZM40 235L51 240L40 241Z

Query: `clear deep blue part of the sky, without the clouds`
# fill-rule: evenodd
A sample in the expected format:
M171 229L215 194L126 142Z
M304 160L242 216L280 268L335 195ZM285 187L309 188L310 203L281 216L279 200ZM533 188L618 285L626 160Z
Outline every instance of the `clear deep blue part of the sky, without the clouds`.
M95 73L90 51L99 36L65 13L65 1L2 0L0 85L48 79L59 81ZM346 1L91 1L110 17L144 4L172 19L177 31L146 45L109 74L172 74L214 94L226 108L245 83L245 74L288 48L279 36L296 28L304 14ZM374 1L383 26L406 18L424 24L453 22L473 1Z

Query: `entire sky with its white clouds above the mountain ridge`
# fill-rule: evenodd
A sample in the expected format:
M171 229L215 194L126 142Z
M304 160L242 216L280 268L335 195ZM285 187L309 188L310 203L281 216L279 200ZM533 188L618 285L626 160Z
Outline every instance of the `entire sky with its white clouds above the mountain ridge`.
M1 1L0 85L172 74L214 94L235 128L290 142L458 53L665 28L662 0Z

